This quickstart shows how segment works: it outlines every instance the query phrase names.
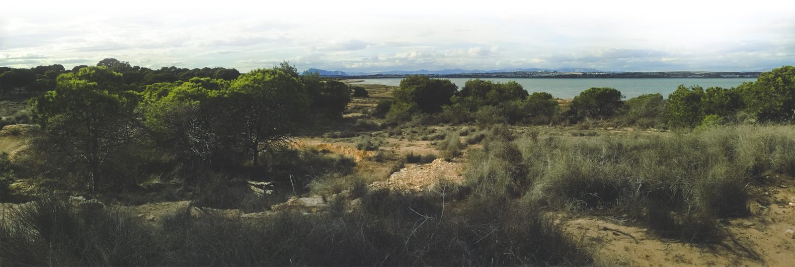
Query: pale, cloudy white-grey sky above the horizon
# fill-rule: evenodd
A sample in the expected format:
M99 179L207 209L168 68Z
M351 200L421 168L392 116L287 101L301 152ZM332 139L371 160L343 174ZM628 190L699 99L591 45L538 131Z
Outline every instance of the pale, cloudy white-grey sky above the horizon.
M13 1L0 66L768 71L795 1Z

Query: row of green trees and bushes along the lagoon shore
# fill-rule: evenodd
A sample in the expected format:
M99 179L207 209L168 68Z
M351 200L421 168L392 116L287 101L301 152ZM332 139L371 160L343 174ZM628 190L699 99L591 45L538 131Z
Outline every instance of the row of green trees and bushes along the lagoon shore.
M764 72L756 82L730 89L683 85L667 99L661 93L623 98L613 88L590 88L565 105L549 93L529 94L513 81L472 79L458 90L448 79L409 76L394 90L394 100L378 103L374 115L393 123L577 124L611 120L655 128L740 121L784 123L795 120L795 67Z

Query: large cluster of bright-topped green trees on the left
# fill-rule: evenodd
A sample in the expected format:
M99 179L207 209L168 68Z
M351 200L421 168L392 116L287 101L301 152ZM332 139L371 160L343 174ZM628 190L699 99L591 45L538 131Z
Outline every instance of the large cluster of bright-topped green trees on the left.
M116 62L118 63L118 62ZM158 170L266 171L290 153L293 136L342 117L352 90L299 74L289 63L234 78L195 76L142 87L106 60L56 77L29 100L33 136L27 162L46 177L91 193L136 185Z

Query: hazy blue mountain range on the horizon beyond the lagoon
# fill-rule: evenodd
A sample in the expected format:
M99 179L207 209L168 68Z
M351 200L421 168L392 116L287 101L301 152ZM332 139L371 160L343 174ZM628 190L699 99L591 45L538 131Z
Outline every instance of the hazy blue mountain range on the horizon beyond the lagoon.
M428 70L419 70L419 71L372 71L372 72L355 72L355 71L325 71L320 69L311 68L308 69L309 72L317 72L320 76L365 76L365 75L413 75L413 74L424 74L424 75L450 75L450 74L478 74L478 73L506 73L506 72L518 72L518 71L525 71L525 72L582 72L582 73L616 73L617 71L599 71L597 69L591 68L580 68L580 67L562 67L558 69L541 69L541 68L505 68L499 70L491 70L491 71L482 71L482 70L462 70L462 69L447 69L441 71L428 71Z

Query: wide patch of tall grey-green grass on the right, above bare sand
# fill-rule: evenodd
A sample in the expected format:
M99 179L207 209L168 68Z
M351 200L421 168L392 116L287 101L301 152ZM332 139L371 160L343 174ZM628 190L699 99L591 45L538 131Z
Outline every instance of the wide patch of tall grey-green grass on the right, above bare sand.
M499 130L496 133L505 132ZM747 184L795 174L795 127L734 126L679 135L490 137L473 151L476 194L629 214L662 235L718 238L715 219L746 216Z

